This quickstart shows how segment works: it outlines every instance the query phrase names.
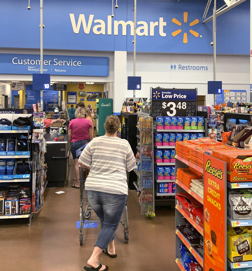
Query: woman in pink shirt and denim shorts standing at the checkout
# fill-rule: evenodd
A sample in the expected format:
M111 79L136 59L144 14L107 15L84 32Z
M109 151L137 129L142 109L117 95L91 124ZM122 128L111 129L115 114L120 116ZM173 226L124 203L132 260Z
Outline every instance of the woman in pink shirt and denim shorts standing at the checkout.
M71 153L74 159L74 172L76 183L73 188L79 189L79 157L76 156L76 150L92 140L92 125L85 119L85 110L78 107L75 110L75 119L71 120L68 126L68 140L71 142Z

